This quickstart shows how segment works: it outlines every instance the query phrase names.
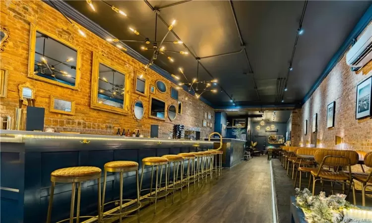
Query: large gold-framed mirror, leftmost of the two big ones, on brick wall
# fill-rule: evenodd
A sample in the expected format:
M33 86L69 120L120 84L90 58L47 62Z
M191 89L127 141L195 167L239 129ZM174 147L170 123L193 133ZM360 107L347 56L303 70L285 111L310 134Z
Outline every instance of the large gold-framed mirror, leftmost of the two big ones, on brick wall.
M28 77L79 90L80 69L80 47L31 24Z

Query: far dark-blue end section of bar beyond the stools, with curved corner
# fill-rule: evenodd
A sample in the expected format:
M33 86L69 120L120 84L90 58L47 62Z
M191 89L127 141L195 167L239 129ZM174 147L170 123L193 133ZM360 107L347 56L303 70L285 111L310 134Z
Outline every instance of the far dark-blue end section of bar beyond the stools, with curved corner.
M208 138L204 138L204 140L207 141ZM214 142L214 149L220 147L219 138L211 138L211 141ZM239 164L243 160L245 145L246 141L244 140L223 138L221 148L224 152L222 155L222 166L230 168Z

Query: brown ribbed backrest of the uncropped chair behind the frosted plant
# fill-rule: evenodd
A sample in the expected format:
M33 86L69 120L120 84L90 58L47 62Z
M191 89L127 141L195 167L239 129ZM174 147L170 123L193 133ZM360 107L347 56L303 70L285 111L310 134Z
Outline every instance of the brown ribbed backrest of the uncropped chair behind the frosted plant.
M332 167L353 166L358 164L358 153L353 150L316 150L314 154L315 162Z

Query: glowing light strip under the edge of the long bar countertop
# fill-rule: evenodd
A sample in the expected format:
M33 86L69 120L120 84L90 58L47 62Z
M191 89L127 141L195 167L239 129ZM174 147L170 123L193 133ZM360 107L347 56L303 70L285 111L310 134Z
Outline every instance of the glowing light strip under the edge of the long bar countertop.
M191 141L191 140L177 140L177 139L128 139L128 138L101 138L101 137L73 137L73 136L45 136L45 135L15 135L15 134L3 134L7 136L25 137L25 138L38 138L38 139L89 139L89 140L120 140L120 141L145 141L145 142L181 142L181 143L214 143L209 141Z

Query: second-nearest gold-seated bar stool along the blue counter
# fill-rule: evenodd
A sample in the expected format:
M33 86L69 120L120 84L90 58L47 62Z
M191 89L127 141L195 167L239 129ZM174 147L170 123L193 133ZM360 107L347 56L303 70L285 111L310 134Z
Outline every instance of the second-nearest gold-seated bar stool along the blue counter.
M120 223L122 223L122 215L126 216L126 214L128 213L137 211L137 219L138 219L137 221L139 223L139 209L141 207L141 203L139 202L139 189L138 189L138 163L133 162L133 161L113 161L113 162L106 163L104 168L105 168L105 173L104 173L104 178L103 178L103 195L102 195L102 211L101 211L102 215L104 213L104 206L105 206L107 172L119 172L120 173L120 195L119 195L120 199L106 203L107 205L107 204L119 201L120 202L119 203L120 205L119 214L106 214L106 215L109 215L109 216L119 215L119 221ZM122 212L123 201L126 201L127 203L131 203L135 201L135 199L123 199L123 183L124 183L123 173L131 172L131 171L135 171L135 178L136 178L136 184L137 184L137 201L136 201L137 208L135 208L134 210L128 211L128 212ZM115 218L115 217L112 217L112 218ZM107 218L107 219L110 219L110 218Z

